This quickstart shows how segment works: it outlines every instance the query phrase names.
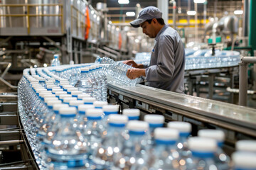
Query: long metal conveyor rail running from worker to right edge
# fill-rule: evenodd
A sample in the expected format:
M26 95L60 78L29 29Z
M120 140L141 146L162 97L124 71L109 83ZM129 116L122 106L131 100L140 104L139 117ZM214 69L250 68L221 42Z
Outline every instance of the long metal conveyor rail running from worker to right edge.
M196 96L177 94L149 86L108 84L108 89L152 106L175 111L189 118L256 137L256 110Z

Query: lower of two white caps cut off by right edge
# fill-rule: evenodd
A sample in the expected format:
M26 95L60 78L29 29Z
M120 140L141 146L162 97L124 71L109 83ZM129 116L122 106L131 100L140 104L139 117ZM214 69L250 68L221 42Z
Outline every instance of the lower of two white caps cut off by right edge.
M256 153L255 152L234 152L232 160L235 168L238 169L256 169Z

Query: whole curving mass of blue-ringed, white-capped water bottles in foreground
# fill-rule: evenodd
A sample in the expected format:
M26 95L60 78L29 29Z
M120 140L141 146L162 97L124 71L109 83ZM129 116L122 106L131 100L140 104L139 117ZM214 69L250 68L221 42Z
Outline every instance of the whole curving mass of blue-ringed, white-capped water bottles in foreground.
M81 71L89 74L90 69ZM221 130L199 130L198 137L189 137L190 123L170 122L163 128L163 115L145 115L142 121L138 109L119 114L119 106L97 101L67 79L52 76L31 69L18 84L18 111L40 169L256 167L255 141L238 142L232 165L221 148Z

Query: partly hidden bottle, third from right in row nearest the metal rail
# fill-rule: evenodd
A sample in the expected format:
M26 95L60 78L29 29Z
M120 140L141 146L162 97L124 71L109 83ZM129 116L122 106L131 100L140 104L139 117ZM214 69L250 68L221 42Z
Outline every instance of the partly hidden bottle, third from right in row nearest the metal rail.
M177 151L181 155L181 158L186 161L188 157L191 157L191 151L188 149L188 136L191 135L191 124L186 122L169 122L167 124L168 128L178 130L179 138L177 142ZM185 164L181 164L180 167L186 166Z

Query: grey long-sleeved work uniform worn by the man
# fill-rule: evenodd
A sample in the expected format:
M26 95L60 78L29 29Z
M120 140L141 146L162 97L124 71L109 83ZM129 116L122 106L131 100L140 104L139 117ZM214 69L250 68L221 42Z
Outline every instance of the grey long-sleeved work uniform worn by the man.
M155 38L146 80L149 86L184 93L185 51L181 37L165 25Z

